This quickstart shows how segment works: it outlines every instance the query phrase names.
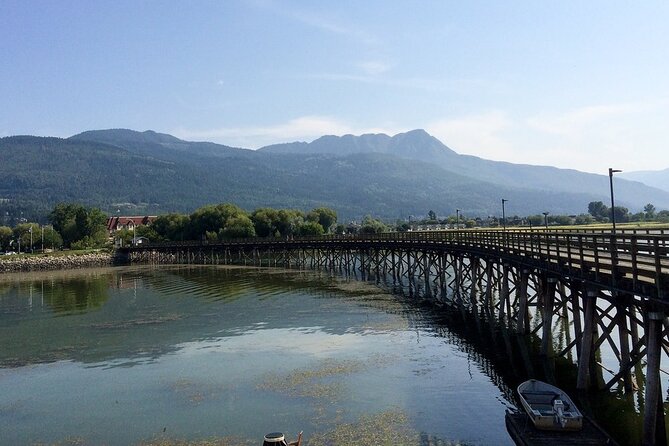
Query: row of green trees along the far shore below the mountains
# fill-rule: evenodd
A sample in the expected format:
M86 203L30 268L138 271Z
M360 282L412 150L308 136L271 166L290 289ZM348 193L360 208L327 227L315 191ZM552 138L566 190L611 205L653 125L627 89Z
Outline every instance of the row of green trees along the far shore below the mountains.
M669 211L657 211L647 204L643 212L632 214L625 207L614 209L616 222L669 223ZM107 215L98 208L77 203L60 203L49 213L50 225L22 221L13 228L0 226L0 251L34 252L41 249L91 249L111 247L107 231ZM509 216L507 226L541 226L609 223L611 209L601 201L588 204L588 213L579 215ZM501 219L468 218L462 214L438 219L430 210L419 224L448 224L451 227L501 226ZM337 222L337 213L327 207L304 212L297 209L258 208L247 212L231 203L200 207L191 214L171 213L157 217L151 225L137 226L134 231L123 229L113 236L125 244L135 237L160 241L224 241L248 237L293 237L323 234L380 233L407 231L411 223L397 221L395 225L365 216L360 224Z

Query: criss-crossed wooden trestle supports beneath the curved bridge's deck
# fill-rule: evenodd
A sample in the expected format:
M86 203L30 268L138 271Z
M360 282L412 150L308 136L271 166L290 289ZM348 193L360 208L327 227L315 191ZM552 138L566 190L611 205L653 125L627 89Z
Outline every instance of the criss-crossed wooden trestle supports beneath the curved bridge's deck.
M631 393L645 387L639 397L643 444L666 445L660 363L663 352L669 355L669 319L667 309L657 307L657 299L499 255L443 246L388 245L205 244L130 250L129 260L325 269L384 280L409 295L483 315L508 332L538 336L541 355L563 357L576 365L579 390L616 387ZM597 352L603 348L615 355L615 368L598 360Z

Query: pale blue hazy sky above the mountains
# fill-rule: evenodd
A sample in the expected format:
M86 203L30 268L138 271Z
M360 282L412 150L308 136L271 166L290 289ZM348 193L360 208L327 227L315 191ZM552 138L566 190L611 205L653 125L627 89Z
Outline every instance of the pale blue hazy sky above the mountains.
M1 0L0 136L119 127L664 169L669 2Z

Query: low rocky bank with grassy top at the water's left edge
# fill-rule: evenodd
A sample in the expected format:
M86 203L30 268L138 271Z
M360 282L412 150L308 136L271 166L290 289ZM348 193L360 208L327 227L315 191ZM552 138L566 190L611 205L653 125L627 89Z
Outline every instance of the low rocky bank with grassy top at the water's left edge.
M29 256L0 259L0 274L80 269L118 264L118 257L114 253L106 252L63 256Z

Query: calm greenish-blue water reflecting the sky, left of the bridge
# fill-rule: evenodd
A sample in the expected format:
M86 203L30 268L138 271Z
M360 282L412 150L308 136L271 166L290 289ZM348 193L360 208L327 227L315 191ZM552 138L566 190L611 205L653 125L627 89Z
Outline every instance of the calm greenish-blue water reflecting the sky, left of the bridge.
M513 444L508 392L428 313L295 271L0 277L0 444Z

